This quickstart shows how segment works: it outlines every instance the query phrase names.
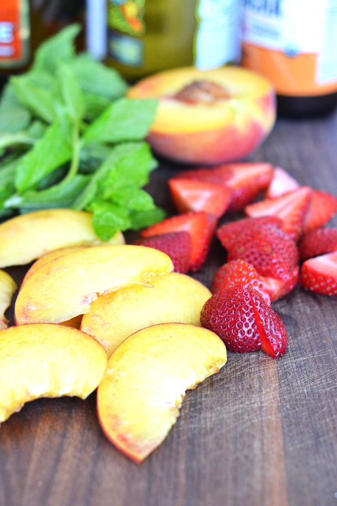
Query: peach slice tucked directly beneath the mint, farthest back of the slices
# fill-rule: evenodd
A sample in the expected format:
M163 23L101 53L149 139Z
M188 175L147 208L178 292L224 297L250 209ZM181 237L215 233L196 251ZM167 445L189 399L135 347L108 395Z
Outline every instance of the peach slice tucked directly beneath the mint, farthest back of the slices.
M73 209L48 209L16 216L0 225L0 267L29 264L49 251L68 246L124 244L117 232L107 243L91 226L91 214Z

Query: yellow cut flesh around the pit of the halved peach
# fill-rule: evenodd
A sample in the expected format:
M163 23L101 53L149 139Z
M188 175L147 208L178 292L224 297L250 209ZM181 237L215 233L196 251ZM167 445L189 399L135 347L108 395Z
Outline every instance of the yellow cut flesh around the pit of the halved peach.
M200 102L192 105L173 98L182 88L198 79L222 86L231 98L211 104ZM159 99L151 133L186 134L217 130L233 123L239 131L245 130L250 121L260 124L263 130L270 130L275 120L274 111L264 110L260 101L271 91L265 78L243 68L224 67L201 71L187 67L143 79L130 88L127 96Z

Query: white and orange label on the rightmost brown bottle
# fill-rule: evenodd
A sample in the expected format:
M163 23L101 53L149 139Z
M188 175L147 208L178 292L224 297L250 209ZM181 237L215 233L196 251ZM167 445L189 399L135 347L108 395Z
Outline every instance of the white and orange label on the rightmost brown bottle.
M243 60L280 95L337 90L336 0L244 0Z

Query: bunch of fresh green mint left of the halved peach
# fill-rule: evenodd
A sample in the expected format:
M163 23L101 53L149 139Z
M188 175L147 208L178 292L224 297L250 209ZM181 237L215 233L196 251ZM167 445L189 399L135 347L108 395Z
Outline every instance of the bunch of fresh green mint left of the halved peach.
M15 209L70 207L93 213L96 234L162 220L142 187L157 166L143 141L157 101L124 98L118 72L75 54L79 25L38 48L0 100L0 217Z

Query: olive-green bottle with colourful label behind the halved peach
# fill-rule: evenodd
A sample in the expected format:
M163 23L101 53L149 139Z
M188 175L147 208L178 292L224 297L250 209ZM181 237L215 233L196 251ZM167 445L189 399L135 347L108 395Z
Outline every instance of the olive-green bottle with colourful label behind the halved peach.
M128 79L239 56L239 0L108 0L107 63Z

